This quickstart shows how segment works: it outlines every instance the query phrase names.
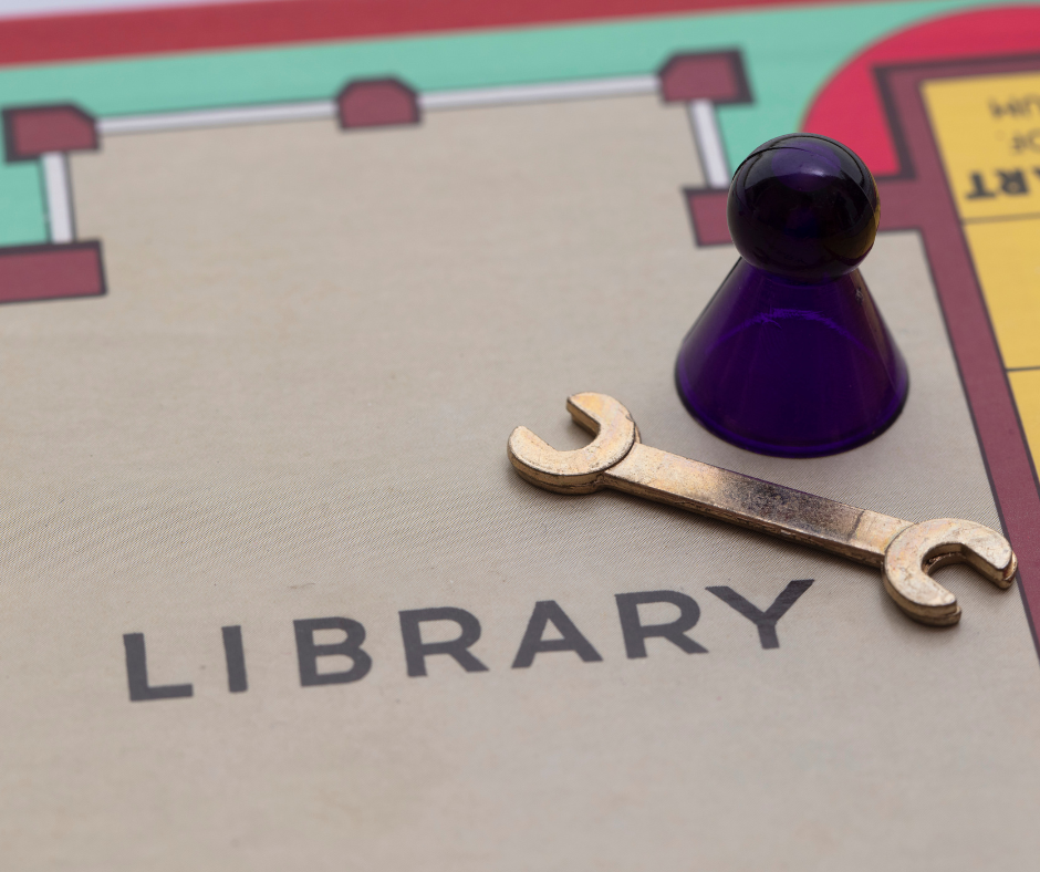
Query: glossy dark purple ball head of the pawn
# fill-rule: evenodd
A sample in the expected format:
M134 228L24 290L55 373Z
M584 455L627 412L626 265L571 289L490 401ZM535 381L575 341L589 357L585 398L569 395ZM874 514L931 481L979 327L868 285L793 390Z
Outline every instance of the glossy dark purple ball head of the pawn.
M737 168L729 232L752 266L795 281L852 272L874 245L874 177L841 143L814 134L778 136Z

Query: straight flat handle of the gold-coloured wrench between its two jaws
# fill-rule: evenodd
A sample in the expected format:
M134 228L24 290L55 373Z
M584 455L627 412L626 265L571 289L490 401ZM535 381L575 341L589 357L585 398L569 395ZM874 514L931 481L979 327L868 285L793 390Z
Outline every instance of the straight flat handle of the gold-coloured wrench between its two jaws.
M601 473L602 485L882 567L913 526L876 511L773 485L636 443Z

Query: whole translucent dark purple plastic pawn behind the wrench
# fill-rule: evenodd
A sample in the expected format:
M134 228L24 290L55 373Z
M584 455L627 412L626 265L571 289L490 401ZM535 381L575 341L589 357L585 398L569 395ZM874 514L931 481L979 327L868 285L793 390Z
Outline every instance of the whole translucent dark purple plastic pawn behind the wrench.
M741 259L679 347L687 409L741 448L783 457L881 434L908 381L856 269L877 232L866 165L824 136L771 139L738 167L727 219Z

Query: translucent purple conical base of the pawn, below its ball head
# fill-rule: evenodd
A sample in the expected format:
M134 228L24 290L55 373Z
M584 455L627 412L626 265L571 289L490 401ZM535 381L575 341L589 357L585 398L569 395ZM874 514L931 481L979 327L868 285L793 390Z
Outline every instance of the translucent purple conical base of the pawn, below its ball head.
M818 457L880 435L906 401L906 364L859 270L818 284L737 262L675 368L689 412L759 454Z

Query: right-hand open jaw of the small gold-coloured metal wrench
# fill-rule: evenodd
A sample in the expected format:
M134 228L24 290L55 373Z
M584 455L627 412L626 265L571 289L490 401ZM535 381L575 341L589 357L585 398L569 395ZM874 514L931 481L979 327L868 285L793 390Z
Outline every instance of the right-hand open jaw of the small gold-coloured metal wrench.
M937 518L907 527L892 540L885 551L885 590L915 621L956 624L957 598L929 573L961 562L1002 589L1011 586L1018 571L1015 552L1000 533L971 521Z

